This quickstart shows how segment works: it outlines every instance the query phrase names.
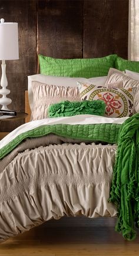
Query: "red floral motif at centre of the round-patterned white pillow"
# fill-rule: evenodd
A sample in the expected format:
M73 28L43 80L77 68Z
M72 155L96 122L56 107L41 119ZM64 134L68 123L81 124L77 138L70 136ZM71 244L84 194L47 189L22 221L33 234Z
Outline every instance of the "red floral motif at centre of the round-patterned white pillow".
M114 112L117 114L120 114L119 109L122 107L121 102L118 100L119 96L113 96L111 93L107 92L104 93L103 95L98 93L97 94L98 98L100 100L104 100L107 107L106 107L106 112L108 116L111 116Z

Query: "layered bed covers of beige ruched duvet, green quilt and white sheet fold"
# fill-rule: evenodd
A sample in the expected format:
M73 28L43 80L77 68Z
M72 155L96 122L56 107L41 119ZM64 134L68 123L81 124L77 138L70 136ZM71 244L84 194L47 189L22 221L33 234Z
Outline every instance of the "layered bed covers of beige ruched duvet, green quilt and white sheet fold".
M98 122L96 116L92 119L62 119L71 125L49 119L47 126L41 125L45 120L34 121L1 140L5 157L0 160L0 241L64 215L117 215L115 205L108 202L117 145L92 142L99 136L117 141L120 124L115 122L123 121L110 119L107 124L107 118L99 117L104 123L90 124ZM55 130L59 134L52 134Z

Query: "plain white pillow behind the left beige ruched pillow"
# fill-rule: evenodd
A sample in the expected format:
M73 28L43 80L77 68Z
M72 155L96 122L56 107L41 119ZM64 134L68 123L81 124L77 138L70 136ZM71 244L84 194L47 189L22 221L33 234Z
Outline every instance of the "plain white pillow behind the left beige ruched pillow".
M80 77L55 77L55 76L45 76L42 74L36 74L28 76L28 99L29 106L32 111L33 107L33 93L32 93L32 81L38 81L39 83L45 83L54 86L65 86L65 87L77 87L77 81L82 81L84 83L93 83L96 86L103 86L107 77L92 77L92 78L80 78Z

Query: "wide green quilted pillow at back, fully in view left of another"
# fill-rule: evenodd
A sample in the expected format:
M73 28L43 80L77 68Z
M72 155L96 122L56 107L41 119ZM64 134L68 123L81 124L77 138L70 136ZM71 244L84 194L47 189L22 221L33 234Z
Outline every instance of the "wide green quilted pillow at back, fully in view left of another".
M101 77L107 76L110 67L114 67L117 55L103 58L59 59L39 54L41 74L58 77Z

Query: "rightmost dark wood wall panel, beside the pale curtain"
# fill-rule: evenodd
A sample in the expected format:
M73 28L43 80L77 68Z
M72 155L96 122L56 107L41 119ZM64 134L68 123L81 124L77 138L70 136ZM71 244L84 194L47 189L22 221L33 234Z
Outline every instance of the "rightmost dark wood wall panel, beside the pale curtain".
M84 1L84 58L127 58L128 0Z

